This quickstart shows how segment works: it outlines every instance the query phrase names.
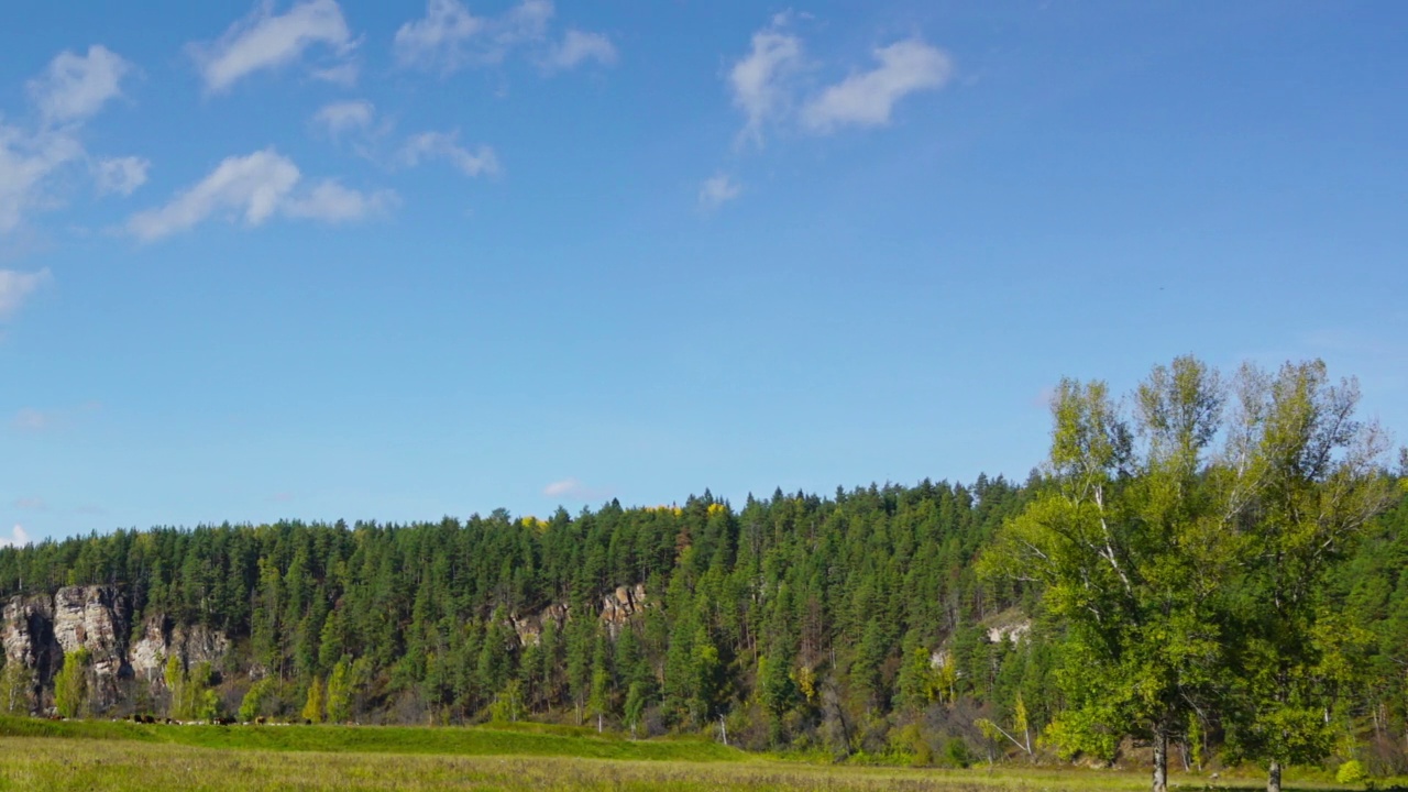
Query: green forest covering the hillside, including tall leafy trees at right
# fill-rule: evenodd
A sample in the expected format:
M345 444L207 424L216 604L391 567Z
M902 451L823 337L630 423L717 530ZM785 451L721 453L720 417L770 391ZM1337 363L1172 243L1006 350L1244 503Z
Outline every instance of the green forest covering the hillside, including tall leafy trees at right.
M1356 409L1318 362L1180 358L1124 399L1063 382L1021 482L4 548L0 709L1401 774L1408 469ZM77 638L45 637L73 588Z

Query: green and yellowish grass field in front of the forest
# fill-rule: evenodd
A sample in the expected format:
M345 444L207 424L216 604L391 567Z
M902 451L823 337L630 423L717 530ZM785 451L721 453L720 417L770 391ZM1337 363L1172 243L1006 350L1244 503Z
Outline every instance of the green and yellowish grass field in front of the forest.
M1180 789L1255 778L1174 776ZM1138 791L1139 772L867 768L745 754L700 740L513 727L141 726L0 717L0 791L705 789ZM1288 789L1339 789L1293 784Z

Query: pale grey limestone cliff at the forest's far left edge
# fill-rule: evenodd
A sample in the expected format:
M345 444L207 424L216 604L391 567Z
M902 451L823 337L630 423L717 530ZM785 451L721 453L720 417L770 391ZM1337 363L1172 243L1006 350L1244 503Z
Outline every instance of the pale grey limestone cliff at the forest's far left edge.
M175 654L187 665L220 662L230 638L204 626L172 627L165 616L149 616L128 647L131 607L115 586L65 586L54 593L14 596L0 612L0 643L6 664L34 669L39 688L52 683L65 652L87 650L90 658L89 703L104 712L120 700L124 679L161 683L166 658Z

